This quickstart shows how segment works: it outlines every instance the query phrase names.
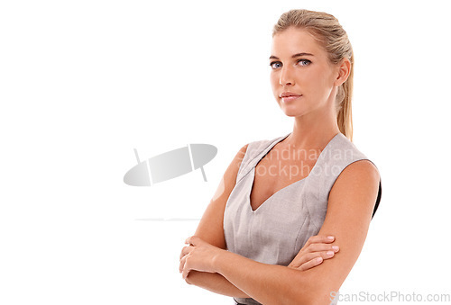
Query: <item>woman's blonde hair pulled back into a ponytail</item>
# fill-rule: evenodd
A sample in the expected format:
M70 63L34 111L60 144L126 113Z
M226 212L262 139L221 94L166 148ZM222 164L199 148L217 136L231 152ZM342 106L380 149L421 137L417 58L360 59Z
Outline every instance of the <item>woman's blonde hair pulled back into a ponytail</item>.
M332 64L338 64L343 58L351 61L350 74L336 94L336 121L338 128L346 138L353 140L352 95L354 76L354 53L347 34L336 17L329 13L308 10L290 10L283 13L274 25L272 37L289 27L305 29L327 51Z

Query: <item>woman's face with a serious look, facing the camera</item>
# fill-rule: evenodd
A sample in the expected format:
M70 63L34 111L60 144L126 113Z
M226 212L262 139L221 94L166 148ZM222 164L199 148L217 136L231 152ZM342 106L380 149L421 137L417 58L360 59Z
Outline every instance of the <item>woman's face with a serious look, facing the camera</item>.
M272 92L288 116L333 110L339 67L308 31L290 27L274 35Z

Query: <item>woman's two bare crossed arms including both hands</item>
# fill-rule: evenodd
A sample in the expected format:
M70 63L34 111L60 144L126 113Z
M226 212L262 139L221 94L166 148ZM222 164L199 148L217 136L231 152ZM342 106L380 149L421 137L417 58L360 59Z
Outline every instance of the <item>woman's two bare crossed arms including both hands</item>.
M379 187L376 167L368 160L347 166L329 193L318 236L308 239L289 266L267 265L225 250L224 211L246 148L227 167L195 236L187 239L180 272L187 283L263 304L329 304L330 293L339 290L364 246ZM336 252L332 246L338 245ZM334 252L332 256L327 250Z

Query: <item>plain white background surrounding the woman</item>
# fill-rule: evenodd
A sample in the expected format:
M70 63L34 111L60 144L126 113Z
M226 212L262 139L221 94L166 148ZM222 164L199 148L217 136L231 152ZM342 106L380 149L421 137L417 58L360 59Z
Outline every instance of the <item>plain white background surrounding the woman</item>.
M451 293L446 1L3 1L0 303L231 304L189 286L179 250L235 153L290 132L272 25L334 14L355 53L354 144L382 202L342 293ZM200 171L123 183L142 159L218 148Z

